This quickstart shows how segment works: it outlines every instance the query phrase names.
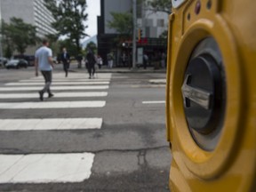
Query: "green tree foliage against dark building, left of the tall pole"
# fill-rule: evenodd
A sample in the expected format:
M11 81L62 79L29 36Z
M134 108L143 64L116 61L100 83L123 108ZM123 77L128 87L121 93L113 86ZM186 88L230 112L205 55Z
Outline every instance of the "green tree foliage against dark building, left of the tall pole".
M132 13L131 12L110 12L113 20L108 20L108 28L116 29L121 35L132 35Z

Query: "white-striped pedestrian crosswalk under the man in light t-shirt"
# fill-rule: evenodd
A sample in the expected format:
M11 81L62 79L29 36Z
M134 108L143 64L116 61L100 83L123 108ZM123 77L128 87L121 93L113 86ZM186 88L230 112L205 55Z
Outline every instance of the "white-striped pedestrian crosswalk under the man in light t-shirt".
M103 119L95 117L36 118L31 110L104 108L111 74L85 79L84 74L53 74L53 99L39 100L42 76L0 86L0 109L24 110L27 118L0 118L0 132L49 132L100 130ZM97 99L97 100L93 100ZM25 101L24 101L25 100ZM28 112L27 112L28 111ZM44 111L45 112L45 111ZM95 154L45 153L0 154L0 184L81 182L90 178Z

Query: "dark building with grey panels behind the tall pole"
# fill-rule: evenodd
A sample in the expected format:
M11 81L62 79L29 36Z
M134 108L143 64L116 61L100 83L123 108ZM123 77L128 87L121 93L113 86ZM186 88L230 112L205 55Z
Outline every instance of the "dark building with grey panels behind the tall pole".
M137 41L137 47L142 48L143 52L153 55L165 52L166 39L160 36L167 30L168 14L164 12L152 12L148 7L148 1L137 1L137 31L141 29L141 39ZM170 8L171 9L171 8ZM132 36L126 39L125 47L116 43L116 37L119 35L115 29L108 28L108 21L112 20L110 12L132 12L132 0L108 0L100 1L100 16L98 17L98 52L107 64L108 52L114 52L116 66L122 65L121 55L125 54L126 66L131 66L132 54ZM139 37L139 36L138 36ZM141 49L140 49L141 50ZM152 56L153 57L153 56ZM155 56L154 56L155 57ZM129 63L130 62L130 63ZM128 63L128 64L127 64Z

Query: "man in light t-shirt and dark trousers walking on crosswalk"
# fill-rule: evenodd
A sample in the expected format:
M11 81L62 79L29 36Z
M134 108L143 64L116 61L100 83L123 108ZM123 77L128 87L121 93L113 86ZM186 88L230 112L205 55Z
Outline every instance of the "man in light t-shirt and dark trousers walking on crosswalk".
M52 50L48 48L49 42L44 39L43 46L36 50L35 54L35 66L36 66L36 76L38 76L38 68L44 76L45 85L44 88L39 91L39 99L44 100L44 92L48 92L48 97L53 97L50 90L52 84Z

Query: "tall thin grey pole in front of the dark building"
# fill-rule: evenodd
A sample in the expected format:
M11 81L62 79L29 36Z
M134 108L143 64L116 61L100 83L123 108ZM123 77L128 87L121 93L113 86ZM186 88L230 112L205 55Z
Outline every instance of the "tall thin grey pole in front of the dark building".
M137 34L137 2L132 0L133 38L132 38L132 68L136 68L136 34Z

